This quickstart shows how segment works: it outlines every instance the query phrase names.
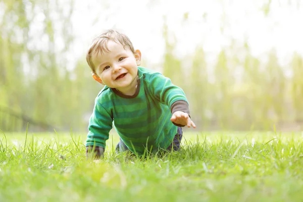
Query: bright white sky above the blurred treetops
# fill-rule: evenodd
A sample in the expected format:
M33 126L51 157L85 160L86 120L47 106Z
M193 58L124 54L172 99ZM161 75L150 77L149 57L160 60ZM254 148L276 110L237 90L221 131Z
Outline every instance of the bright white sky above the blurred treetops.
M170 40L177 41L176 56L192 54L201 45L212 63L231 40L247 39L254 56L262 59L272 48L287 65L293 52L303 56L303 5L300 0L272 1L269 15L261 0L115 0L75 1L71 22L76 40L69 60L85 58L86 48L98 33L116 28L126 33L143 60L161 65L164 54L164 19ZM184 14L188 18L184 20ZM72 68L72 67L70 67Z

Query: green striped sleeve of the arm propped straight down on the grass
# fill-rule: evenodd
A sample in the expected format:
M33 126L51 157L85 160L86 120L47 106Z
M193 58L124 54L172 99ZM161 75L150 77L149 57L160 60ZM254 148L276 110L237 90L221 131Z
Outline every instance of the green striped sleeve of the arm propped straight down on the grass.
M109 132L112 129L113 117L99 103L98 97L95 100L93 113L89 119L86 146L101 146L105 148L106 140L109 139Z

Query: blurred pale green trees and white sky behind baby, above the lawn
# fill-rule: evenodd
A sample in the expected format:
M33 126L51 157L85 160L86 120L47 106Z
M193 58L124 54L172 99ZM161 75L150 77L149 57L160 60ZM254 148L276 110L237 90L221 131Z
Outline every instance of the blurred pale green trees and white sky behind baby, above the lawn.
M86 132L85 52L124 32L182 87L198 131L303 130L300 0L0 0L0 129Z

